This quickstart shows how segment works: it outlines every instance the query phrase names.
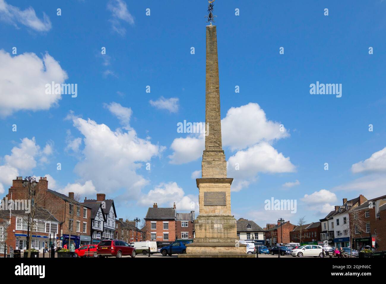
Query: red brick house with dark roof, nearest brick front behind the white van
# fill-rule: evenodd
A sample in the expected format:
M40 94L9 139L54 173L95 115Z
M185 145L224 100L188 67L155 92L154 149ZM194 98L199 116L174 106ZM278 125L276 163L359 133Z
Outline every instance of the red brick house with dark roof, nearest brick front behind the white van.
M168 245L176 240L176 205L171 208L158 207L157 203L147 210L144 231L145 240L157 241L157 245Z

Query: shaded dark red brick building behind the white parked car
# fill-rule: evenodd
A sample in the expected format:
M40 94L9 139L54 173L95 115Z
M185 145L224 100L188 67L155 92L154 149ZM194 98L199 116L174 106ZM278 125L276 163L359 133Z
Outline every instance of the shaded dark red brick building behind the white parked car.
M289 233L289 242L300 245L322 245L320 243L321 222L312 222L301 226L295 226ZM301 233L300 233L301 232Z

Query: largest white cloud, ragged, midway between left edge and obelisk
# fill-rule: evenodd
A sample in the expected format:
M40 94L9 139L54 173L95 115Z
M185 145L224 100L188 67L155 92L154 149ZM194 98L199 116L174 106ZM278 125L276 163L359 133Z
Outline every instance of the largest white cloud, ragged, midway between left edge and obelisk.
M98 192L125 190L131 198L139 196L148 181L137 174L142 162L161 155L163 146L137 136L134 129L112 131L105 124L70 115L73 125L83 135L82 159L74 168L81 181L91 180Z

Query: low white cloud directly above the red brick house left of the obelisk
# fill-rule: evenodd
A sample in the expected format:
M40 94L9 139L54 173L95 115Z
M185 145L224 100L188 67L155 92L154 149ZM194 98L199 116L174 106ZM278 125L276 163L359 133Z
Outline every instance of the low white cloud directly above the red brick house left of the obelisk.
M138 203L143 206L157 203L159 207L173 207L174 202L178 210L194 211L195 208L198 208L197 197L185 196L184 190L176 182L160 183L144 194Z

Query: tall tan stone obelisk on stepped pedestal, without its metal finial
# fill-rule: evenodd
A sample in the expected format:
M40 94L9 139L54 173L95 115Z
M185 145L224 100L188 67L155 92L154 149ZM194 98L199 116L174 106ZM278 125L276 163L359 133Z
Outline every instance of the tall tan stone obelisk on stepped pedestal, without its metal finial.
M220 90L218 79L217 31L212 23L207 30L207 66L205 96L205 150L202 178L196 179L200 214L195 220L195 238L179 257L254 257L246 245L239 244L236 219L230 212L231 178L222 150Z

